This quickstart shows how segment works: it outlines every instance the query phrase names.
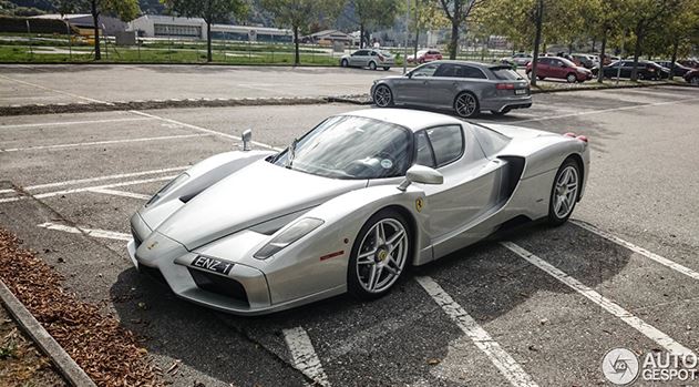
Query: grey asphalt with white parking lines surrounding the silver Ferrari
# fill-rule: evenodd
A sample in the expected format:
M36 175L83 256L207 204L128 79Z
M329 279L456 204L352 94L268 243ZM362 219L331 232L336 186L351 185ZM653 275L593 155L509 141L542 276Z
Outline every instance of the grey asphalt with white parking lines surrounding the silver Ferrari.
M501 119L484 114L476 121L590 139L592 171L574 222L497 235L408 273L394 292L372 303L340 296L264 317L223 315L138 275L120 240L145 197L186 165L238 147L232 136L251 128L254 140L282 147L353 105L0 118L0 192L14 184L32 195L0 193L0 224L40 252L71 291L104 303L145 336L161 368L182 360L177 375L168 376L176 386L300 386L310 379L335 386L505 386L522 375L539 386L608 385L600 366L609 349L640 354L662 346L658 336L600 307L599 297L699 349L699 278L634 247L699 271L698 106L698 89L664 86L537 94L532 109ZM538 265L503 241L533 253ZM541 262L568 276L556 277ZM463 319L438 304L444 296L425 292L424 278L490 338L466 334ZM595 296L574 291L565 284L569 278ZM299 349L291 336L307 340ZM513 363L498 368L502 357L487 355L493 343L500 348L494 354ZM299 363L299 350L310 360Z

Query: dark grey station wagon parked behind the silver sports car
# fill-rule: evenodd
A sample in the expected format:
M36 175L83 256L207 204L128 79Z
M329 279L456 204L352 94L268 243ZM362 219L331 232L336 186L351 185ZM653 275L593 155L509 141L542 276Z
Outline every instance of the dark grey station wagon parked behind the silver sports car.
M405 75L380 79L371 86L371 96L379 108L450 109L463 118L532 106L530 82L508 65L465 61L430 62Z

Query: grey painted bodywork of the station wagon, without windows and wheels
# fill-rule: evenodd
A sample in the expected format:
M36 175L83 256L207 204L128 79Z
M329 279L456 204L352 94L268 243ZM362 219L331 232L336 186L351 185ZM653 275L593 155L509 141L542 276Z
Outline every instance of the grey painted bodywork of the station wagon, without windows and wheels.
M412 77L420 68L440 64L465 65L480 71L484 78L455 78L455 77ZM414 105L429 109L454 109L456 96L463 92L470 92L479 101L480 111L502 112L510 109L530 108L532 95L528 82L521 80L497 79L491 68L503 68L497 64L482 64L466 61L433 61L415 68L404 75L392 75L380 79L373 83L370 93L374 95L374 89L386 84L392 92L395 105ZM515 94L514 90L497 90L497 83L514 83L516 89L526 90L525 94Z

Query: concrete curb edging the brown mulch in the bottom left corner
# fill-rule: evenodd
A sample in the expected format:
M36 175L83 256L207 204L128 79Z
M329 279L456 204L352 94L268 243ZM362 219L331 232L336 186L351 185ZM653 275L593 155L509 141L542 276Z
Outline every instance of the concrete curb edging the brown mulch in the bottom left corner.
M7 285L0 279L0 298L7 306L10 314L17 319L22 329L34 340L34 343L47 354L59 371L72 386L96 387L94 381L80 368L65 349L61 347L53 337L41 326L41 323L24 307L24 305L10 292Z

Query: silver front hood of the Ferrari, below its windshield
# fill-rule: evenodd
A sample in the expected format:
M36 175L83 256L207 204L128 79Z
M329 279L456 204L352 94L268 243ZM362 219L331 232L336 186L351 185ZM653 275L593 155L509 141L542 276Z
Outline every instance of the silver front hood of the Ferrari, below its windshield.
M199 193L157 231L191 251L364 186L366 180L321 177L260 160Z

